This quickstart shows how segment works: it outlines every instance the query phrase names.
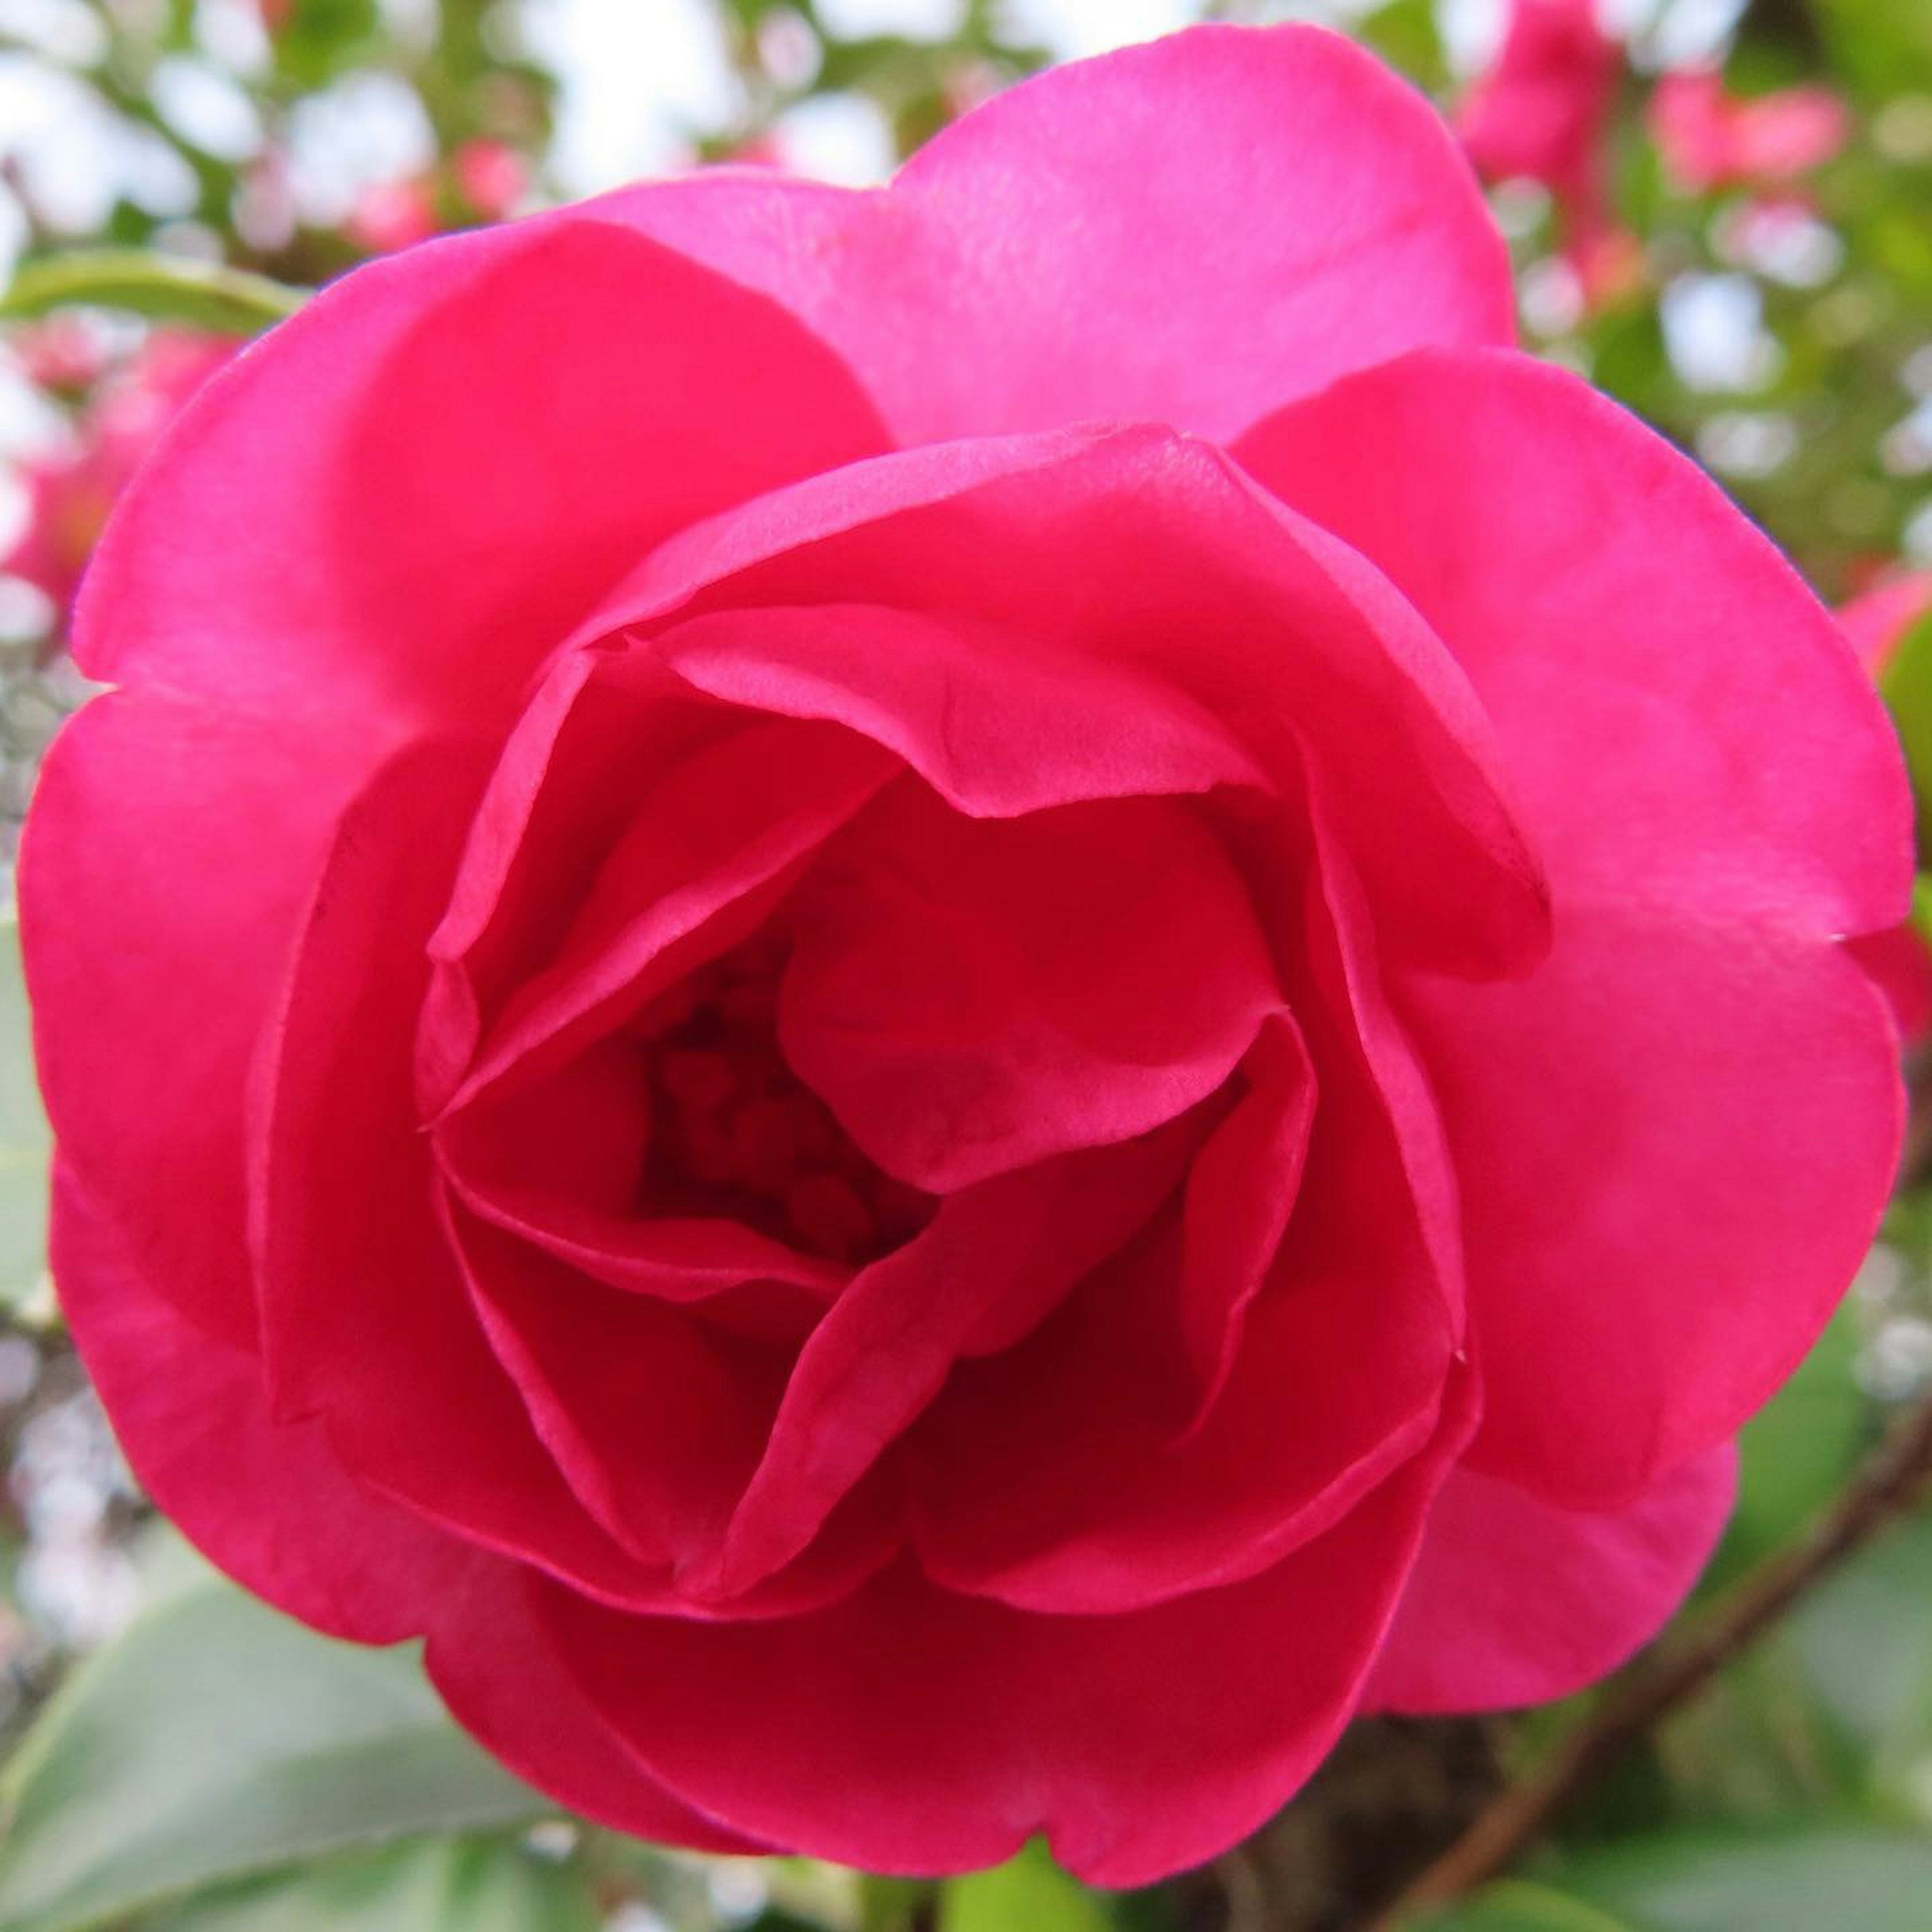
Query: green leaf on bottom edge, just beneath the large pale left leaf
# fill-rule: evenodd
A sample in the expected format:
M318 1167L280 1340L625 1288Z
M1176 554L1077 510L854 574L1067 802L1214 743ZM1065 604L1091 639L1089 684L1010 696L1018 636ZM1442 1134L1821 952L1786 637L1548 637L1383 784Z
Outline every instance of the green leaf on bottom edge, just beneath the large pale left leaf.
M249 1880L145 1932L597 1932L583 1874L502 1841L425 1839Z

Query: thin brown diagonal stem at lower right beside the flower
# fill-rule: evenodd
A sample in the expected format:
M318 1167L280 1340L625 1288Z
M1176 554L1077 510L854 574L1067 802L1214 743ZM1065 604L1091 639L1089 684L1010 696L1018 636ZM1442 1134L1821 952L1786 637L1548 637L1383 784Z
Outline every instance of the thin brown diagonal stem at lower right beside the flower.
M1789 1549L1768 1557L1677 1642L1663 1644L1565 1737L1536 1776L1505 1791L1376 1920L1399 1932L1412 1913L1472 1891L1536 1843L1551 1820L1665 1712L1696 1694L1814 1582L1868 1542L1932 1476L1932 1395L1872 1451L1845 1492Z

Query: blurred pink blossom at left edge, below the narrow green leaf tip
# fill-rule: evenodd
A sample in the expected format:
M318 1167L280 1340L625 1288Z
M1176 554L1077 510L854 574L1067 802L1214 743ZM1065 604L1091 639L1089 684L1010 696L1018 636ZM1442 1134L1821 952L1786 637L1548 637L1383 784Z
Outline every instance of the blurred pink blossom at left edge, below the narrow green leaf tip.
M230 355L234 344L160 328L133 361L81 412L73 448L25 466L27 520L0 570L33 583L66 609L108 512L187 398ZM62 363L75 373L71 357Z

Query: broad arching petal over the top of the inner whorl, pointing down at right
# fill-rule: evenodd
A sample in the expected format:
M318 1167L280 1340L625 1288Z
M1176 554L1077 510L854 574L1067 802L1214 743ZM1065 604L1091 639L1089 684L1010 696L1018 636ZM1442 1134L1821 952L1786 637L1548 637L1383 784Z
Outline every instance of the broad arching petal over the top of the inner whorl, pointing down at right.
M1122 744L1134 767L1171 761L1190 717L1223 719L1267 784L1316 794L1391 956L1488 976L1548 951L1548 887L1463 668L1372 562L1219 450L1128 427L852 464L672 539L578 636L668 636L694 605L742 611L750 630L773 607L860 601L954 638L1026 639L1036 688L1082 661L1095 723L1119 719L1126 688L1182 694L1159 732ZM958 709L972 726L997 701ZM1198 736L1188 757L1198 769ZM1090 765L1049 765L1043 788L1092 788Z

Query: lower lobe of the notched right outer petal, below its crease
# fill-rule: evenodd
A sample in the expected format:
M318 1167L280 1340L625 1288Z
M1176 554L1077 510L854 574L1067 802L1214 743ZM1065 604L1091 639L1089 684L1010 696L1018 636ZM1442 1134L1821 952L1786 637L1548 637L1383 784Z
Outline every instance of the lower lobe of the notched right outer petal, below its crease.
M1463 1184L1472 1461L1627 1503L1762 1406L1870 1246L1886 1005L1839 947L1598 906L1528 981L1410 999Z

